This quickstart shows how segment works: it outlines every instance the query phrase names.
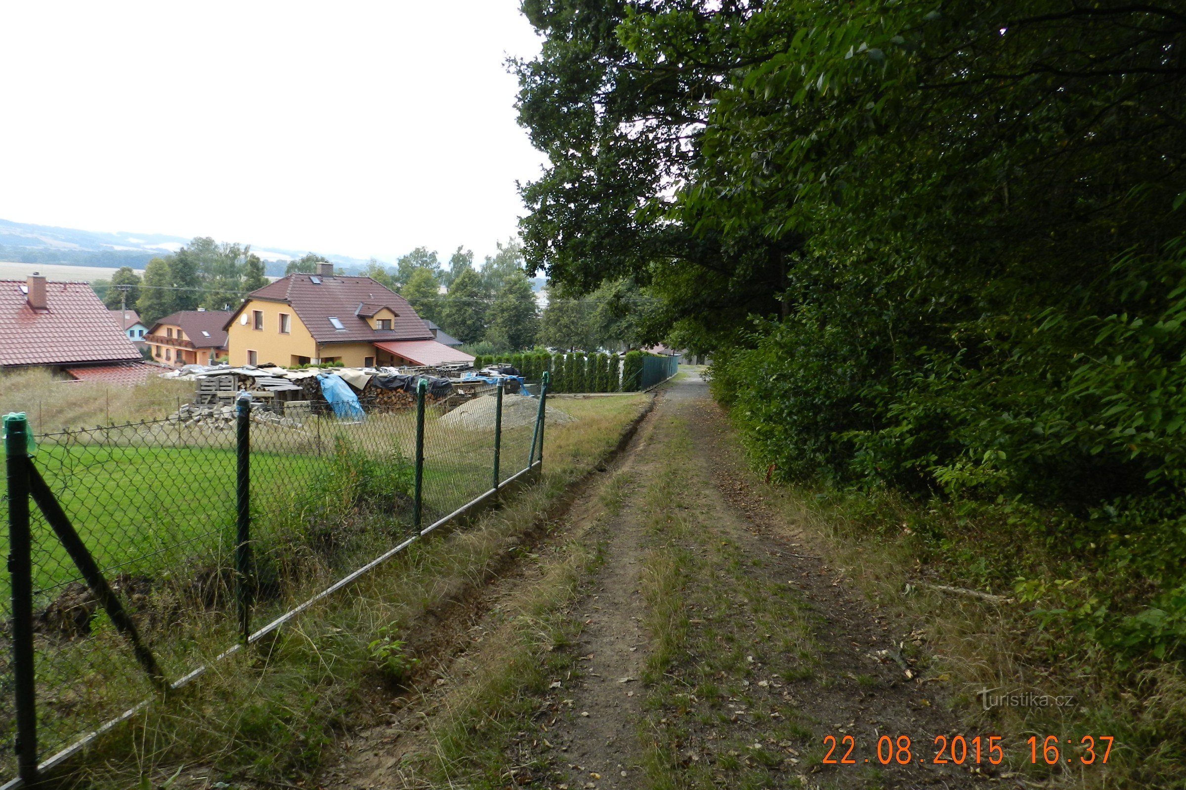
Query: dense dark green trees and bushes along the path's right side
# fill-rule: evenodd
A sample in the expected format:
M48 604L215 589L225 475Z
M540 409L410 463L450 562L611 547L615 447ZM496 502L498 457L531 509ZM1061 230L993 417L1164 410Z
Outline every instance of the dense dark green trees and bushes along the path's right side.
M518 64L521 121L566 152L523 190L530 265L662 297L650 326L714 353L779 474L1014 514L1084 569L1018 569L1048 628L1182 655L1177 13L525 13L544 44ZM640 372L631 352L626 388Z

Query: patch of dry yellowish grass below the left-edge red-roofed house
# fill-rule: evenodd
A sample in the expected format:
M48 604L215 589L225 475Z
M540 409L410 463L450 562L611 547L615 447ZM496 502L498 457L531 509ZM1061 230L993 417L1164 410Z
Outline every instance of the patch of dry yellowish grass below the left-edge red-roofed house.
M192 381L155 375L117 385L72 381L44 368L0 373L0 413L25 412L37 433L159 419L192 396Z

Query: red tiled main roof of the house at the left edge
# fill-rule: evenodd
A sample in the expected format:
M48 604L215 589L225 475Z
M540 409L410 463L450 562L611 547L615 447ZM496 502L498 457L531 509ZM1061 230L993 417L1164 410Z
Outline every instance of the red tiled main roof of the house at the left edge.
M0 366L140 360L89 283L47 282L33 310L24 280L0 280Z

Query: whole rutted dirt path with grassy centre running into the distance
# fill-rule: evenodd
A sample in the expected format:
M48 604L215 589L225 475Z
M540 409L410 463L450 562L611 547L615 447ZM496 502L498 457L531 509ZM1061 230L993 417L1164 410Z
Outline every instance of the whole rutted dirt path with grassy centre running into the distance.
M971 760L932 763L957 719L918 676L912 635L810 544L763 506L687 377L536 559L454 629L436 679L356 736L321 786L982 784ZM458 738L468 746L447 756Z

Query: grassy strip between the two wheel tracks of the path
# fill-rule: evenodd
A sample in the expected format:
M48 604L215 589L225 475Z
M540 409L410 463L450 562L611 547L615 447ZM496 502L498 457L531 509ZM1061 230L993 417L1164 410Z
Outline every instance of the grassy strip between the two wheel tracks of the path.
M818 664L806 615L718 528L687 424L665 430L644 500L648 786L796 786L814 747L792 692Z

